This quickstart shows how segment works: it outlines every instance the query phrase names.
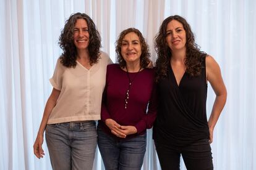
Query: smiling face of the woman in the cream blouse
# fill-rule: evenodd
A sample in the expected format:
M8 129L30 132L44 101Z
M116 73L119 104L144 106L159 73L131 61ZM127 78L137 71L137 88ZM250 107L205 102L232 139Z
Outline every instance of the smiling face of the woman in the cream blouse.
M74 26L74 44L77 50L85 50L89 46L90 34L87 22L84 19L77 19Z

